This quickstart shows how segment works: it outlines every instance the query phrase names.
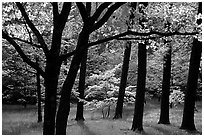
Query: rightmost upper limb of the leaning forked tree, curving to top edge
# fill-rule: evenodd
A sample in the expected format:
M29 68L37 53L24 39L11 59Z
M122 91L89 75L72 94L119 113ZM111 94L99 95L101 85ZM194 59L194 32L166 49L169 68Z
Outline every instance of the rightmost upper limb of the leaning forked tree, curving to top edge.
M125 2L117 2L114 5L112 5L110 8L108 8L105 15L96 24L94 24L92 31L100 28L109 19L109 17L113 14L113 12L117 10L120 6L122 6L123 4L125 4Z

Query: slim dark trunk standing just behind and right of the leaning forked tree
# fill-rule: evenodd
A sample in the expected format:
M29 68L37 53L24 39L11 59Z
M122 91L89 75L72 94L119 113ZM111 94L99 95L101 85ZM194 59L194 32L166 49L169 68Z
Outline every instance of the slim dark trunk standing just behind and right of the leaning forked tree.
M79 78L79 98L84 99L84 90L85 90L85 80L86 80L86 62L87 62L87 54L88 50L85 50L82 61L81 61L81 66L80 66L80 78ZM84 121L84 107L83 107L83 102L78 102L77 103L77 113L76 113L76 121Z

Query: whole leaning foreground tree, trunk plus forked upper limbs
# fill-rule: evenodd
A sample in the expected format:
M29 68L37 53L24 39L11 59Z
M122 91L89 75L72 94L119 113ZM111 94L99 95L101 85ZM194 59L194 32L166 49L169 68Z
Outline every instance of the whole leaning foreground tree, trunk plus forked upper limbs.
M95 11L95 13L90 17L88 15L90 15L91 12L91 3L86 3L86 6L83 3L77 3L77 7L79 8L79 12L82 16L84 26L79 34L76 51L72 58L67 78L65 79L61 90L61 98L56 119L56 134L66 134L67 119L70 111L71 90L77 75L77 71L79 69L80 62L82 60L81 55L83 55L84 52L88 50L89 35L94 30L100 28L109 19L112 13L123 4L124 3L115 3L111 5L111 3L102 3ZM111 6L108 7L109 5ZM108 10L101 17L101 19L99 19L99 16L106 8L108 8Z

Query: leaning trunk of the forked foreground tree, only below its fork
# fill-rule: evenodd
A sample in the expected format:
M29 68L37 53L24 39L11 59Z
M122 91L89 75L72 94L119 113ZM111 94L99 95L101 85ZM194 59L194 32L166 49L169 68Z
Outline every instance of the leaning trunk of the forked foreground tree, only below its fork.
M69 68L68 75L65 79L61 90L61 98L56 119L56 134L65 135L67 127L67 119L70 112L70 95L74 81L76 79L79 65L82 60L82 55L87 50L86 45L88 44L89 31L84 29L79 35L76 52L72 58L71 66Z

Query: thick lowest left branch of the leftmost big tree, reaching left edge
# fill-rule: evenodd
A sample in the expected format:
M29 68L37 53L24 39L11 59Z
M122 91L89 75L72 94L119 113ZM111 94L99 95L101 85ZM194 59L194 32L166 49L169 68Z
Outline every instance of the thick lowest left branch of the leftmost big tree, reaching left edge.
M35 70L39 71L40 75L42 77L45 77L45 72L35 63L32 62L23 52L23 50L20 48L20 46L8 35L2 30L2 37L6 39L13 47L16 49L18 54L21 56L24 62L26 62L28 65L30 65Z

